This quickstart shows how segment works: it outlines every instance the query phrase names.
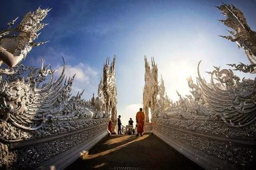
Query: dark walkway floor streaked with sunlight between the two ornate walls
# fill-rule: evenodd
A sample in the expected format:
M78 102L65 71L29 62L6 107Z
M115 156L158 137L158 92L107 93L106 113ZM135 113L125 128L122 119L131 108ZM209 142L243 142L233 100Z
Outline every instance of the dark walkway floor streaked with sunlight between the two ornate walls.
M109 136L66 169L203 169L152 135Z

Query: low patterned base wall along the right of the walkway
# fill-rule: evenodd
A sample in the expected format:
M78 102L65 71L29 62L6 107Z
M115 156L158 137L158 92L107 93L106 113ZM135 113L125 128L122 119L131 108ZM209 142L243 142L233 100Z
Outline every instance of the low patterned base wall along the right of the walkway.
M181 120L189 123L188 128L180 128L171 123L176 121L171 118L152 120L153 133L157 137L205 169L250 169L254 166L256 138L248 137L249 127L240 129L241 136L234 137L231 133L236 133L236 130L233 131L224 122L218 122L215 132L210 129L209 132L202 132L200 128L206 129L204 123L208 122L191 128L191 120ZM221 129L228 129L227 134L218 135Z

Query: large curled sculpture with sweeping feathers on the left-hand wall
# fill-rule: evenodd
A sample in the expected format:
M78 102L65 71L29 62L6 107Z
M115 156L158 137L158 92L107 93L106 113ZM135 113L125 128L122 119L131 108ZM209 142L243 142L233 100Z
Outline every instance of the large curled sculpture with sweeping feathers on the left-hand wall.
M28 77L22 74L28 72ZM70 97L73 78L63 84L65 66L61 76L53 81L53 71L48 66L41 68L20 65L12 69L13 74L1 74L0 115L1 123L9 122L26 130L36 130L48 118L61 111ZM49 81L40 86L50 75Z

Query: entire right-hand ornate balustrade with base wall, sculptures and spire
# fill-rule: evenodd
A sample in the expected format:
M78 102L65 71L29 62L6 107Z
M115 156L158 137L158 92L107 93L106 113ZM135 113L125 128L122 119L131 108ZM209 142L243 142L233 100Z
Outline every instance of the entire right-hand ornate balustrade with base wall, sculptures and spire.
M248 29L239 9L225 4L218 8L228 17L222 22L235 30L230 32L233 37L224 38L237 42L252 63L230 66L255 73L255 32ZM177 92L179 99L173 102L164 96L163 79L157 86L156 64L150 69L145 61L143 101L144 107L154 108L153 133L205 169L253 169L256 79L240 79L231 69L214 67L207 82L200 75L199 64L196 83L188 78L192 95Z

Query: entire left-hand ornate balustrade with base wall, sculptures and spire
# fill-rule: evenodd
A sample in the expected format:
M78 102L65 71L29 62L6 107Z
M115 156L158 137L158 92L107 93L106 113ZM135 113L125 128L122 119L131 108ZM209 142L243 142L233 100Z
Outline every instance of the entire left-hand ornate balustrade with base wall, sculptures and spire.
M115 58L110 68L107 59L99 96L91 101L82 99L83 91L71 97L75 75L65 79L64 60L57 79L42 58L41 68L17 64L33 46L42 44L33 41L45 26L40 21L48 11L29 12L17 28L0 33L0 65L9 66L0 69L0 169L38 169L48 159L75 152L73 148L86 140L107 133L110 111L116 122ZM18 36L9 36L13 32Z

